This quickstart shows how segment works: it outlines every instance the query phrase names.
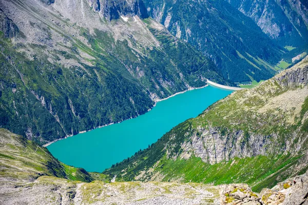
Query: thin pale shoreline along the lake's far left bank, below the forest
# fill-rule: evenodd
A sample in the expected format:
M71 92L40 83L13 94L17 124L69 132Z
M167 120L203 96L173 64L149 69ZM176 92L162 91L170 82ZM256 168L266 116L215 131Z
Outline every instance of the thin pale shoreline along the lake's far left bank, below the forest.
M185 92L187 92L187 91L196 90L196 89L202 89L202 88L205 88L205 87L207 87L207 86L208 86L208 84L206 84L205 86L202 86L202 87L197 87L197 88L195 88L195 87L189 87L187 90L177 92L177 93L172 94L172 95L170 95L170 96L168 96L168 97L166 97L166 98L163 98L163 99L152 99L152 100L154 101L154 105L153 105L152 108L148 109L147 112L149 112L150 110L152 110L152 109L156 106L156 104L157 104L158 102L160 102L160 101L169 99L169 98L174 97L174 96L176 96L176 95L178 95L178 94L183 94L183 93L185 93ZM146 113L147 113L147 112L146 112ZM145 113L144 113L144 114L145 114ZM138 117L138 116L140 116L140 115L137 115L136 117ZM89 131L91 131L91 130L98 129L98 128L103 128L103 127L106 127L106 126L109 126L109 125L118 124L118 123L123 122L124 120L132 119L132 118L136 118L136 117L130 117L130 118L127 118L127 119L123 119L122 121L119 121L119 122L111 122L111 123L109 123L109 124L106 124L106 125L103 125L103 126L98 126L98 127L93 128L93 129L90 129L90 130L80 131L78 134L85 133L85 132L89 132ZM75 135L77 135L77 134L75 134ZM66 139L66 138L68 138L68 137L72 137L72 136L75 136L75 135L66 135L64 138L56 139L56 140L53 140L53 141L51 141L51 142L48 142L48 143L44 144L43 147L48 147L49 145L53 144L53 143L56 142L56 141L59 141L59 140L62 140L62 139Z

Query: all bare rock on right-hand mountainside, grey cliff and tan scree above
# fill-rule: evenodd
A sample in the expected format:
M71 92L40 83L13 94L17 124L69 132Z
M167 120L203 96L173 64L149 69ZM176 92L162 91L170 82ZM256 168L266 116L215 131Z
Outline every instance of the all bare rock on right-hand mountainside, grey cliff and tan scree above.
M305 139L305 134L296 129L293 132L282 134L279 131L272 132L258 132L262 129L263 125L266 125L266 117L270 115L279 116L281 112L285 115L288 115L288 119L285 122L283 118L279 118L280 123L295 124L296 117L300 117L302 105L304 100L308 97L308 57L306 57L298 65L287 69L275 77L264 82L267 85L261 85L260 88L255 88L253 90L242 91L241 98L235 100L237 107L230 110L219 110L214 109L204 112L203 115L205 121L208 122L208 126L198 126L196 130L190 135L189 140L184 142L181 145L183 152L181 153L181 158L187 158L194 154L197 157L200 157L204 162L214 163L221 162L223 160L230 160L235 157L252 157L257 155L275 155L277 153L283 153L284 151L297 152L298 150L304 150L303 141L294 147L294 139L300 138L302 135L302 140ZM276 86L273 86L276 85ZM262 88L264 87L264 89ZM268 89L267 91L265 90ZM281 94L282 92L285 92ZM277 95L271 100L270 95ZM246 98L248 96L248 98ZM225 104L228 106L233 105L231 100L228 98L236 98L236 96L229 96L226 98ZM251 104L249 98L252 98L254 101L258 101L256 106L249 105ZM288 100L288 99L292 100ZM237 109L239 108L239 109ZM244 110L254 110L253 112ZM280 110L280 112L272 113L274 110ZM235 111L234 111L235 110ZM234 113L232 114L232 112ZM244 112L243 112L244 111ZM217 115L218 112L225 112L221 116L221 120L232 118L228 123L230 125L226 126L228 128L222 128L220 126L212 125L213 122L208 119L212 115ZM237 113L246 113L247 116L255 115L252 119L240 117L235 118ZM249 114L248 114L249 113ZM286 114L290 113L290 114ZM245 115L246 115L245 114ZM264 115L264 117L262 117ZM292 116L293 115L293 116ZM258 116L258 117L257 117ZM264 119L263 119L264 118ZM200 121L202 119L199 119ZM237 120L245 120L242 122L244 126L236 127L230 129L232 124L236 125L239 122ZM258 126L252 126L252 121L257 121ZM271 122L272 126L274 122ZM256 131L245 130L245 127L251 127ZM172 150L172 146L169 148ZM189 154L188 154L189 153ZM170 156L171 157L171 156ZM175 158L175 156L173 156Z

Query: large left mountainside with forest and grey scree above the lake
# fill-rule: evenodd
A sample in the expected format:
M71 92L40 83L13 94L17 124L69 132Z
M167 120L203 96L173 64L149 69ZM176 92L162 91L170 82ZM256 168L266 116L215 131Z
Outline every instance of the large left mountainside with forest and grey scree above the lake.
M45 144L136 117L206 78L227 84L201 52L142 19L142 1L104 2L0 1L0 127Z

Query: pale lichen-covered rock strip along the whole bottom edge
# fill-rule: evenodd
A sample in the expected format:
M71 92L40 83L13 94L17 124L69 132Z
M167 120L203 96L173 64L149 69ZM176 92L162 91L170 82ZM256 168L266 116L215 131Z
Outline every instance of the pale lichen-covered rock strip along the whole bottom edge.
M308 204L307 173L255 193L245 184L84 183L51 176L33 182L0 182L0 204Z

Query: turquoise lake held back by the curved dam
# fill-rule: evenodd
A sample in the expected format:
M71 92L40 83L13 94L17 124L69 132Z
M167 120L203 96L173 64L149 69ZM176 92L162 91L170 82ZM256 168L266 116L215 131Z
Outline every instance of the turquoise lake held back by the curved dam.
M56 141L47 149L60 161L89 172L102 172L156 142L171 128L198 116L232 93L212 86L187 91L160 101L137 118Z

